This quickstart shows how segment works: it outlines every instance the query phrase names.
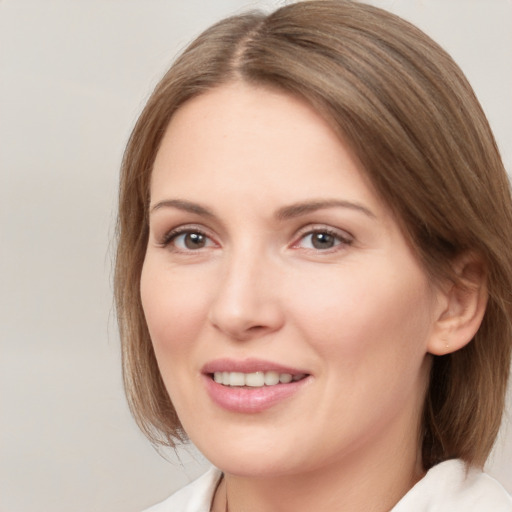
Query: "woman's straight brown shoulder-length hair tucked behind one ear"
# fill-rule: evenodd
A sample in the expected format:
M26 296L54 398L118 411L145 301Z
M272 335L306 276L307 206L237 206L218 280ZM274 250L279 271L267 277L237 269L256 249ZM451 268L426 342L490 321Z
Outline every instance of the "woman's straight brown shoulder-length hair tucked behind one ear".
M163 384L139 292L151 172L187 100L241 81L301 97L343 137L433 280L457 282L468 251L489 300L464 348L433 356L423 409L425 469L481 466L504 410L512 347L512 200L485 115L462 71L418 28L348 0L306 1L225 19L176 60L129 139L119 195L115 298L131 411L157 445L186 440Z

